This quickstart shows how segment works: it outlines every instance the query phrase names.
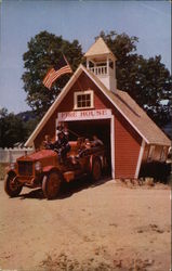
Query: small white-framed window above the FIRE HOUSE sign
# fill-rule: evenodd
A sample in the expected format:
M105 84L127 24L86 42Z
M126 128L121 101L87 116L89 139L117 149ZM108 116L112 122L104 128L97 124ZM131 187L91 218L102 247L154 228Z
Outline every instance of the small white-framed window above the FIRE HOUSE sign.
M93 108L93 91L78 91L74 96L75 109Z

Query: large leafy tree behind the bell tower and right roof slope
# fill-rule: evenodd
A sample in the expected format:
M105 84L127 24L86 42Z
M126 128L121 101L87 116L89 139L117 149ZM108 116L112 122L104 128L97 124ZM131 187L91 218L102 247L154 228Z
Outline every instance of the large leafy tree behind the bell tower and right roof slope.
M138 38L115 31L101 37L117 57L117 86L127 91L161 127L170 120L172 77L161 56L144 59L136 53ZM168 104L162 101L168 100Z

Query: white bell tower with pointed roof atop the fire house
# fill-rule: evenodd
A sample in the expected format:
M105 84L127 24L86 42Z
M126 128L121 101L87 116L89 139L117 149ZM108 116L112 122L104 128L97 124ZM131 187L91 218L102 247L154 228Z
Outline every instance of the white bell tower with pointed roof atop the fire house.
M109 91L116 92L116 56L103 38L100 37L84 56L87 57L87 68L97 76Z

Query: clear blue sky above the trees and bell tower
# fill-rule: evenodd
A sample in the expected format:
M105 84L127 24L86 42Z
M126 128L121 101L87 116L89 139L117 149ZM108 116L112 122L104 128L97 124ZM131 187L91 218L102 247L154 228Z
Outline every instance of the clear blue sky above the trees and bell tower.
M127 33L140 38L137 52L145 57L161 54L171 68L170 1L53 1L2 0L0 7L0 108L29 109L21 79L27 42L41 30L72 41L83 52L101 30Z

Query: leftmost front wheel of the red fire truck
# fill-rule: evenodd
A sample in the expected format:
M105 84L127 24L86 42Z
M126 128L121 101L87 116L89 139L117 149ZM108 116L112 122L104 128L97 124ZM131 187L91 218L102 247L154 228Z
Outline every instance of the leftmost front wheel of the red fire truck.
M15 173L9 173L4 180L4 191L11 197L17 196L22 191L22 185L18 183Z

